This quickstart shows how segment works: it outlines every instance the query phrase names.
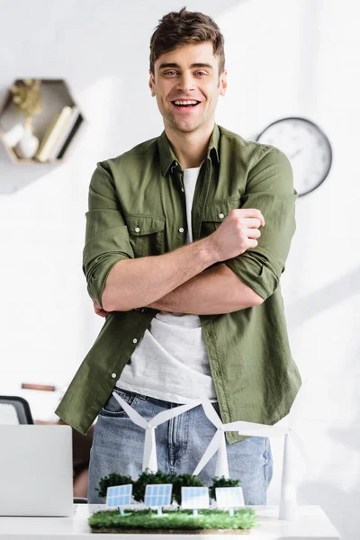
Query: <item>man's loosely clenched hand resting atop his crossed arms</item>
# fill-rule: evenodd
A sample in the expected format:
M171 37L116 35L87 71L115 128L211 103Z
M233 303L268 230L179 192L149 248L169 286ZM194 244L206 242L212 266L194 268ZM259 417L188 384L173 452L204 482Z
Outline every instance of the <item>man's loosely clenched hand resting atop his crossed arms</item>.
M236 209L222 221L210 237L220 261L238 257L250 247L257 247L259 227L265 225L264 216L257 209Z

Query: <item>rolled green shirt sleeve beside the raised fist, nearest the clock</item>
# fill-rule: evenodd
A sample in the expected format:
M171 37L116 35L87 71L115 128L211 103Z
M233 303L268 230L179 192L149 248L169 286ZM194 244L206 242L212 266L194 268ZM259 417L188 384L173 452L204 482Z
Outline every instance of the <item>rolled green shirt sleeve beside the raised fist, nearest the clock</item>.
M271 296L285 269L295 225L293 169L278 148L264 146L247 176L240 208L256 208L265 219L255 248L225 264L264 300Z

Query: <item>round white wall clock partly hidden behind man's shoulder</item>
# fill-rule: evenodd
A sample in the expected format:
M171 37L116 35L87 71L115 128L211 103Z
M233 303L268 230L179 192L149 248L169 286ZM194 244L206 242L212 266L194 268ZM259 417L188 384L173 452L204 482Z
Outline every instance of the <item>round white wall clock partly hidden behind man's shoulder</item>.
M328 137L305 118L283 118L267 126L257 141L279 148L293 166L299 196L310 193L329 175L332 151Z

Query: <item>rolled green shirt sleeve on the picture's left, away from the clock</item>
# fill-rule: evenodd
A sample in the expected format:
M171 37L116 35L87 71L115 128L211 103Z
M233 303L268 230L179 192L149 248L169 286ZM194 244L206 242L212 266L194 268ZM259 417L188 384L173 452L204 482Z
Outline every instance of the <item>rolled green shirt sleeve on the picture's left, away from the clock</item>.
M83 272L90 297L102 306L103 288L112 266L121 259L134 258L121 203L106 162L98 163L92 175L88 208Z

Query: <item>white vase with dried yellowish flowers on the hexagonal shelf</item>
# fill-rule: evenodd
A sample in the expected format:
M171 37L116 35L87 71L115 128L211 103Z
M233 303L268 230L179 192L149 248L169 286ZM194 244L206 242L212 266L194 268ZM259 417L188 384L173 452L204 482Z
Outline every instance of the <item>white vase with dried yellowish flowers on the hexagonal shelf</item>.
M39 148L40 141L32 133L32 117L41 112L40 84L39 79L23 79L10 88L15 109L25 115L23 137L15 147L19 157L31 158Z

